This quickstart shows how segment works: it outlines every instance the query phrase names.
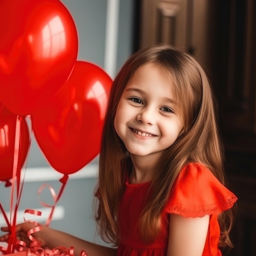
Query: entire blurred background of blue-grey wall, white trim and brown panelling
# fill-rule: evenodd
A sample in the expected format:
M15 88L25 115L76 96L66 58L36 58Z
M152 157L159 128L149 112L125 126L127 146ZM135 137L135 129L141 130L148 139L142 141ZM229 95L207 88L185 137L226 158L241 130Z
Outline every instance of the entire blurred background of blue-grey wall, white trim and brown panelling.
M62 0L79 36L78 60L102 67L112 78L138 49L165 42L193 54L205 67L218 101L229 188L239 199L228 256L256 255L256 1L254 0ZM32 136L18 222L25 209L49 209L42 201L62 175L52 170ZM70 175L51 227L104 244L96 234L93 194L97 158ZM1 184L0 184L1 185ZM9 209L10 189L0 186ZM30 216L26 216L31 219ZM41 217L40 221L45 221ZM0 225L5 225L0 216Z

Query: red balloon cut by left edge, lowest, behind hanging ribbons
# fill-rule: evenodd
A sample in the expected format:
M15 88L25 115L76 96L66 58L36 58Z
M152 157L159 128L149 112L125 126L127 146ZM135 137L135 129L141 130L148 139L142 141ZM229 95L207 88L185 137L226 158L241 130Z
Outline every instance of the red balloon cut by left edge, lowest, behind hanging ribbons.
M7 181L12 178L14 142L17 115L7 108L0 113L0 180ZM18 154L18 171L22 168L29 149L29 131L26 120L20 121L20 146Z

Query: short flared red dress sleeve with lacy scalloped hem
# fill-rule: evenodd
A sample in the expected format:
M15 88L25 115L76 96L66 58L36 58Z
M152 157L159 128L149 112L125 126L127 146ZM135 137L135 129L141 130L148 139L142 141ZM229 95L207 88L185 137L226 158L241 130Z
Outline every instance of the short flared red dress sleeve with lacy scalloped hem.
M165 211L184 217L220 213L233 206L236 196L200 163L189 163L177 177Z

